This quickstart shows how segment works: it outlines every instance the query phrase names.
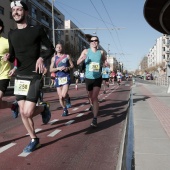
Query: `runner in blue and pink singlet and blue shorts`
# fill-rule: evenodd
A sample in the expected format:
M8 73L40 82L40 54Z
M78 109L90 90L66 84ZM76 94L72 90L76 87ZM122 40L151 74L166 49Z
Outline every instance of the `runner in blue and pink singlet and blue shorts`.
M69 85L71 83L70 69L73 68L73 62L68 54L63 53L62 44L57 44L55 50L56 53L51 59L50 72L55 73L55 87L63 108L62 116L68 116L65 100L68 96Z

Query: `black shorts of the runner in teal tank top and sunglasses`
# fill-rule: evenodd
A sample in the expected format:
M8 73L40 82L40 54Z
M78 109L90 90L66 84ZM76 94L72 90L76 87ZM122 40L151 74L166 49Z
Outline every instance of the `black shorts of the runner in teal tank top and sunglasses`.
M92 91L93 87L100 87L102 84L102 77L99 77L97 79L87 79L85 78L85 83L86 83L86 89L88 91Z

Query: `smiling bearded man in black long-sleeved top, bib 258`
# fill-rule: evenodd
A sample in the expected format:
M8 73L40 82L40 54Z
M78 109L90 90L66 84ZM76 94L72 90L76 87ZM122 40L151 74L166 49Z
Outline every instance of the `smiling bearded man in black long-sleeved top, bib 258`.
M44 71L44 60L54 53L54 47L42 26L30 26L26 22L28 6L23 1L11 2L12 17L17 28L8 34L9 61L17 58L18 69L15 78L14 94L19 105L22 122L28 131L31 141L23 152L30 153L40 146L34 129L33 117L42 115L44 124L51 118L49 104L44 102L36 106L40 93L40 83ZM41 45L46 47L41 53Z

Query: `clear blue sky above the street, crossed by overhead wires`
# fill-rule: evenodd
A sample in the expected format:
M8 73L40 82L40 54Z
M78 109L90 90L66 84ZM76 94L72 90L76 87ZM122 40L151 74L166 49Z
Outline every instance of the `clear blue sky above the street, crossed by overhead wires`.
M85 34L97 35L100 45L123 63L138 69L162 34L143 15L145 0L55 0L55 6Z

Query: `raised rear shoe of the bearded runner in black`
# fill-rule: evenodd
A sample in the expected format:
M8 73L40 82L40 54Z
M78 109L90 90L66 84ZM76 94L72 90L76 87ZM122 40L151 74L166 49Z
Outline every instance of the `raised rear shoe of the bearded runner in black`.
M41 102L40 105L44 106L44 111L41 112L42 121L47 124L51 119L50 104L47 102Z

